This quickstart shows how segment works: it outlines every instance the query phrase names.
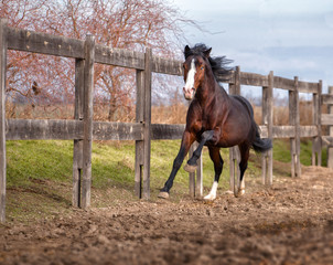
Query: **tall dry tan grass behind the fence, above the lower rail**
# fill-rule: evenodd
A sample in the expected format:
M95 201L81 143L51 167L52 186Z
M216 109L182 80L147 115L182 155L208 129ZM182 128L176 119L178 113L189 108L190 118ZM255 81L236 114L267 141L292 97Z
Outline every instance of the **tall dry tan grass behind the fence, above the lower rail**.
M19 105L7 103L7 118L34 118L34 119L73 119L74 105L42 105L34 106L30 104ZM95 120L109 120L108 104L94 105ZM153 124L184 124L186 121L186 103L174 103L172 105L152 106L151 121ZM254 106L255 120L257 124L262 124L261 106ZM323 108L323 113L326 109ZM312 124L312 103L300 102L300 123L301 125ZM122 107L117 109L114 120L131 123L136 120L136 109L132 107ZM289 125L289 108L286 106L273 107L273 125Z

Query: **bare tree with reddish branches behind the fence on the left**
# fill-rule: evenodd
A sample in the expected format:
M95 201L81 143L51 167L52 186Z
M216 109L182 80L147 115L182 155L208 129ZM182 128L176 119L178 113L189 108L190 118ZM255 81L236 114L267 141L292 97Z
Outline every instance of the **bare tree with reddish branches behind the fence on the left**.
M152 47L164 57L179 56L183 23L195 24L166 0L2 0L0 17L13 26L69 38L90 33L97 43L111 47ZM24 96L32 104L36 98L73 99L73 60L11 52L8 73L13 98ZM95 65L95 88L96 99L109 103L108 119L115 120L117 109L128 112L133 106L135 72Z

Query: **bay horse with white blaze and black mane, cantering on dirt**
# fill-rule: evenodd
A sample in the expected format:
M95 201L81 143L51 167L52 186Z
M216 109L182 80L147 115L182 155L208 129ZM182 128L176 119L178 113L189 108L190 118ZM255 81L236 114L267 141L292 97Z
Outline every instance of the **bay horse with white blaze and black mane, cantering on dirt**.
M173 161L172 171L159 198L168 199L176 172L183 163L191 145L198 141L197 149L193 152L184 169L194 172L196 161L204 146L208 147L210 157L214 163L215 177L211 192L205 200L215 200L219 176L223 170L221 148L238 146L240 151L240 181L236 195L243 195L244 172L247 169L249 150L257 152L269 150L272 145L270 139L261 139L258 125L254 119L254 109L250 103L236 95L228 95L217 81L227 81L232 68L225 56L212 57L212 47L196 44L192 49L184 49L185 62L183 94L185 99L192 100L186 115L186 126L183 132L181 147Z

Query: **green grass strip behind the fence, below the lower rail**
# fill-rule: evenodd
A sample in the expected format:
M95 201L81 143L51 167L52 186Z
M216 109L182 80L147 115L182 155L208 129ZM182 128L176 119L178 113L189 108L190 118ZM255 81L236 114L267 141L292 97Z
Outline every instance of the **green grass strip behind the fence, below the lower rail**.
M180 140L151 142L151 197L157 198L172 168ZM275 176L290 176L289 141L275 140ZM323 153L325 160L325 153ZM229 183L228 150L221 189ZM186 161L186 160L185 160ZM185 162L184 161L184 162ZM246 179L260 179L260 156L251 153ZM311 142L302 141L301 162L311 165ZM8 220L29 221L71 211L73 141L7 141L7 215ZM280 168L280 169L279 169ZM121 200L137 200L135 189L135 144L131 141L93 144L93 206L107 206ZM279 171L280 170L280 171ZM204 190L214 178L213 162L203 150ZM189 194L189 174L180 169L172 189L173 200Z

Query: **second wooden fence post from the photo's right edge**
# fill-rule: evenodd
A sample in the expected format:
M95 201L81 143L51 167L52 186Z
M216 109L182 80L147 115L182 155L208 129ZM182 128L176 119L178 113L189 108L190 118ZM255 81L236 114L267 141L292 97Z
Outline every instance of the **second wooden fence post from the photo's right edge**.
M312 166L321 166L322 163L321 94L322 94L322 81L319 81L318 93L313 94L313 105L312 105L312 120L318 129L318 135L312 139Z

